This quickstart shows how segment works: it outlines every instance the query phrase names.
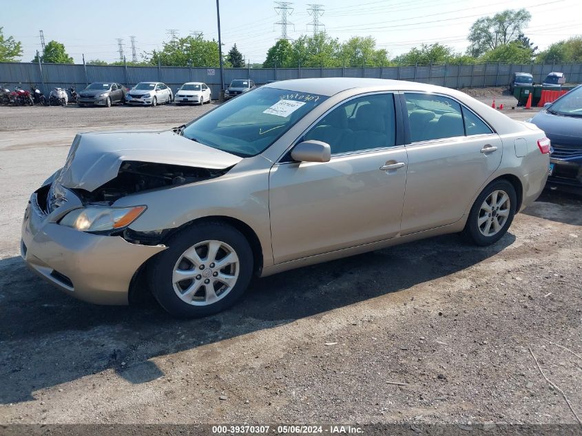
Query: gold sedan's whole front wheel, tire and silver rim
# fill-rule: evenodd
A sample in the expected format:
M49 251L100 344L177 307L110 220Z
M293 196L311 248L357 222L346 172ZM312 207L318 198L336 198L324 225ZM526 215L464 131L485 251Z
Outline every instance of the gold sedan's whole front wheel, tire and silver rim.
M202 222L176 233L148 269L152 292L175 316L218 313L245 292L253 253L245 236L222 222Z

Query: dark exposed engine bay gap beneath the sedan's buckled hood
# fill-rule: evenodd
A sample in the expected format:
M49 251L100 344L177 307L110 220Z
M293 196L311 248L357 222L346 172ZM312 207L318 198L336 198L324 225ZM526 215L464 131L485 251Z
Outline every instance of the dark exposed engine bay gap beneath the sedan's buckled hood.
M229 169L231 167L208 169L127 160L121 164L116 178L101 187L91 192L83 189L75 191L84 203L111 205L118 198L130 194L209 180L226 174Z

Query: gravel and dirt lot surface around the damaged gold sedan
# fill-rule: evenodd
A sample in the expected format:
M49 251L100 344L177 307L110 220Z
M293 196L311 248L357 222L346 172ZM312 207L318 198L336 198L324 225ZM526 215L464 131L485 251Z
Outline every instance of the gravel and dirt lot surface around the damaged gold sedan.
M492 247L444 236L255 280L202 320L85 304L25 268L28 196L74 133L209 107L0 107L0 424L576 422L532 353L582 415L580 197L545 192Z

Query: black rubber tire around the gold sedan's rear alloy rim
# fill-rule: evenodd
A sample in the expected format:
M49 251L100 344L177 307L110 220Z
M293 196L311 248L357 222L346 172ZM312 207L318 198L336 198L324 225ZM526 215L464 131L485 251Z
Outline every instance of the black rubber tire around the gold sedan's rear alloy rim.
M503 191L508 195L509 207L506 208L508 209L508 216L505 222L503 222L503 225L501 225L501 229L499 229L499 231L497 231L495 234L492 234L491 236L486 236L481 232L481 229L479 229L479 219L487 218L487 214L482 214L481 205L483 205L485 200L495 191ZM479 194L477 200L475 200L475 203L473 203L469 217L467 218L465 228L461 232L461 236L467 242L472 242L475 245L481 245L481 247L495 244L495 242L497 242L503 237L503 235L507 233L511 222L513 221L513 217L515 216L516 206L517 194L515 193L515 188L510 182L508 182L508 180L501 179L490 183L483 189L483 191L481 191L481 194ZM492 211L492 214L489 216L491 217L490 220L499 220L499 216L497 216L497 209ZM486 225L486 222L484 225Z

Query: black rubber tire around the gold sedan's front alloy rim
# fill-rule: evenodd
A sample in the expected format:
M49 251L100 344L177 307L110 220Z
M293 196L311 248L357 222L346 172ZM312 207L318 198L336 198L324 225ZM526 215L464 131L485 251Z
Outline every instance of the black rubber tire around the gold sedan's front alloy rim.
M183 253L199 242L207 240L224 242L236 252L238 278L224 297L205 306L195 306L178 297L172 283L172 275L176 262ZM147 273L154 297L170 314L181 318L213 315L230 307L247 290L253 273L253 252L245 236L237 229L223 222L200 222L174 234L166 245L169 248L152 259L152 266L148 268Z

